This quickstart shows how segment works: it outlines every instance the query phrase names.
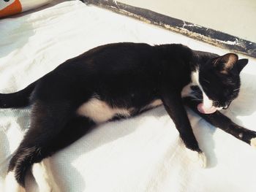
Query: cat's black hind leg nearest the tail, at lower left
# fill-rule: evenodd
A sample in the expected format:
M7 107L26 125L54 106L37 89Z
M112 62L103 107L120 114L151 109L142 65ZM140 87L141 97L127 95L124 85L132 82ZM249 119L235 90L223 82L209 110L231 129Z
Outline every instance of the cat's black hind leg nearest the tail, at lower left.
M31 169L32 164L50 155L48 144L56 139L72 117L70 106L67 101L52 104L37 101L32 106L31 126L12 156L8 168L8 172L14 172L22 187L25 187L26 172Z

